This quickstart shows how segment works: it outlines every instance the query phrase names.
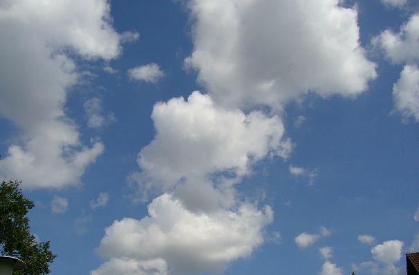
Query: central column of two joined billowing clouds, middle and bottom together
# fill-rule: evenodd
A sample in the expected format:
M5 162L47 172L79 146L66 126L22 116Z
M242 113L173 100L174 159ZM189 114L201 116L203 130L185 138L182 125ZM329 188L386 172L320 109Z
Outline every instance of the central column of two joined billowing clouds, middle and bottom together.
M162 259L170 274L202 274L249 256L264 242L273 212L240 200L234 184L268 155L287 156L283 122L224 109L199 92L156 104L152 119L155 138L139 153L141 172L131 179L142 191L166 193L148 206L147 217L106 229L98 252L109 261L93 272L110 270L116 259Z

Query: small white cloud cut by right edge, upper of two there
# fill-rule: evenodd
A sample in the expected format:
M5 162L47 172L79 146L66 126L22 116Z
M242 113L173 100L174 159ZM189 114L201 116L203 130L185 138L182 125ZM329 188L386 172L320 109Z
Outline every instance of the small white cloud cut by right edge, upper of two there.
M373 39L373 44L395 64L419 61L419 14L412 15L400 32L384 30Z

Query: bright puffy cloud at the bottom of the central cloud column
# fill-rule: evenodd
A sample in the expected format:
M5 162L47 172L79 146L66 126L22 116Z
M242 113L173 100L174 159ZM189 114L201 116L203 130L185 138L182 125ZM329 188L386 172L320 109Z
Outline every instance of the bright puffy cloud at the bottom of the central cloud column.
M272 218L270 207L258 210L248 203L237 211L195 213L165 193L148 206L147 217L124 218L107 227L97 252L136 261L163 259L172 274L215 272L263 243L262 228Z

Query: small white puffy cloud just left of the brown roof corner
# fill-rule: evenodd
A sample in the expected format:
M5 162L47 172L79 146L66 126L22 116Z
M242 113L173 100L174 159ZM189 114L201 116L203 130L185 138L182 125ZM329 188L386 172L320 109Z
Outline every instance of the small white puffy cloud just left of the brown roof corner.
M402 258L403 245L400 240L387 240L382 245L375 245L371 253L375 260L386 265L394 265Z

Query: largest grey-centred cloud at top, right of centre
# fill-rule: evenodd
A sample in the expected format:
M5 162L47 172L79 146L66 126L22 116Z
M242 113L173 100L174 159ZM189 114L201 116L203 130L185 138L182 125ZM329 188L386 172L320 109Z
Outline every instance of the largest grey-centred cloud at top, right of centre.
M339 0L190 0L186 66L224 106L280 109L314 92L355 97L374 79L357 11Z

